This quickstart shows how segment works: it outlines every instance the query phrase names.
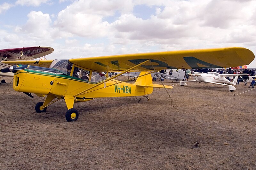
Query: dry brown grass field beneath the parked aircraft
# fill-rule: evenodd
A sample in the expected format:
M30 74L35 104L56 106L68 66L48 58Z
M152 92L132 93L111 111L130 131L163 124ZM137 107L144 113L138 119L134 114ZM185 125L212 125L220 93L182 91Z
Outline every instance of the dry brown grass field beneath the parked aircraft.
M43 98L15 92L12 78L4 79L0 169L256 169L256 89L233 95L249 83L235 92L178 84L168 89L176 107L164 89L148 95L150 101L136 97L140 103L97 98L76 104L79 118L67 122L63 100L36 113Z

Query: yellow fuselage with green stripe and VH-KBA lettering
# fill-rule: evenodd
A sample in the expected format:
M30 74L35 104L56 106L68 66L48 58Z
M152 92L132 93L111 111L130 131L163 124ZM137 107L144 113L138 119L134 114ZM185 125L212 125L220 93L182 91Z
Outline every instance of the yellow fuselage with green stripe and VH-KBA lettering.
M151 78L150 74L148 76ZM151 94L153 91L153 88L118 82L120 81L113 79L105 83L102 83L102 81L92 83L66 74L56 74L54 69L48 72L25 69L14 74L13 89L20 92L35 93L37 96L54 95L59 99L72 96L76 98L75 102L84 102L97 97L143 96ZM83 94L79 94L96 84L99 85L85 91Z

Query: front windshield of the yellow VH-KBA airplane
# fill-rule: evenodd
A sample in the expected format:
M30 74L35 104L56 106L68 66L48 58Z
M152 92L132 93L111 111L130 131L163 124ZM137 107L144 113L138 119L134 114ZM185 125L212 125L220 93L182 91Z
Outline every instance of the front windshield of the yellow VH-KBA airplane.
M50 68L59 70L64 74L70 75L73 64L68 60L53 60Z

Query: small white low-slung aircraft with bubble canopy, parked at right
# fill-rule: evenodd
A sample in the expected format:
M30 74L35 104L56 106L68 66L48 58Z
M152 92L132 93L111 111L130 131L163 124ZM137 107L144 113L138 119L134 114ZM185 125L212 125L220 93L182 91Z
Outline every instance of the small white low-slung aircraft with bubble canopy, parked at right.
M218 84L223 86L229 86L229 90L234 91L236 90L234 86L236 86L238 76L248 75L248 74L219 74L216 72L208 72L208 73L194 72L191 75L195 80L180 81L180 86L187 85L186 82L204 82L204 83L212 83L212 84ZM233 77L233 76L235 76L235 79L233 82L229 81L226 78L226 77Z

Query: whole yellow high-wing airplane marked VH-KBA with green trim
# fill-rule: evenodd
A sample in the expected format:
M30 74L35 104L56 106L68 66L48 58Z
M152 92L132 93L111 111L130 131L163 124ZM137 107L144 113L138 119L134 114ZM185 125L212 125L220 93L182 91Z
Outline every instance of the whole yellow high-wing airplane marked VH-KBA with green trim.
M241 47L183 50L171 52L138 53L69 60L3 61L14 65L13 89L44 97L36 104L36 112L64 99L67 121L75 121L78 111L74 103L97 97L145 96L153 88L168 88L152 83L151 73L163 69L236 67L250 64L254 54ZM115 80L126 72L140 71L134 84ZM108 77L109 72L122 72ZM105 74L106 73L106 74ZM126 80L127 81L127 80Z

